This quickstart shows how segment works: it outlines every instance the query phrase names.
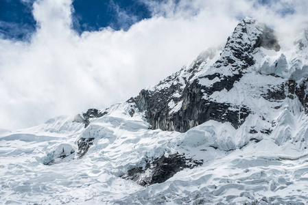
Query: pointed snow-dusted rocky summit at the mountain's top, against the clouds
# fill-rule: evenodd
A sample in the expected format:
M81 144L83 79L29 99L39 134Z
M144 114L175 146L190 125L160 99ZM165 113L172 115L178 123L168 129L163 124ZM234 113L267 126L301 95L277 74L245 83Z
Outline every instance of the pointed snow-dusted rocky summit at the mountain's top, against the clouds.
M214 65L215 68L223 69L215 72L223 75L246 72L248 67L255 64L253 53L259 47L279 51L280 46L274 30L253 18L241 20L228 37L221 57Z

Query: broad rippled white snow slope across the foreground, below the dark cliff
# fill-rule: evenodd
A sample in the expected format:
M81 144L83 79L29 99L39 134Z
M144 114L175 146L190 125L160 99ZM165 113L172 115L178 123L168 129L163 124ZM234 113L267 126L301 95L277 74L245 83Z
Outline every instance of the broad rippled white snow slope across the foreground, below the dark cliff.
M288 141L279 146L268 137L225 152L211 145L215 140L222 143L222 139L215 139L220 133L228 132L233 137L235 129L230 124L222 126L210 121L187 133L177 133L150 130L140 117L119 114L93 120L79 131L82 136L97 138L88 153L82 159L63 160L50 166L44 165L42 158L63 144L71 144L77 150L78 134L64 137L55 131L36 134L19 131L1 137L0 201L3 204L255 201L307 204L308 152L293 143ZM228 146L228 141L225 144ZM144 165L146 159L176 152L203 159L204 164L184 169L166 182L149 187L119 177L132 167Z

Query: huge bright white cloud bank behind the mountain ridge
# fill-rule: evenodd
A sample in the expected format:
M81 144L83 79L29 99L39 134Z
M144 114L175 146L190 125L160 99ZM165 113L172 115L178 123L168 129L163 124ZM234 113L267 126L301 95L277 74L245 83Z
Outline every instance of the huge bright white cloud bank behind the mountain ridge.
M128 31L105 28L81 36L71 29L71 0L36 1L32 40L0 39L0 127L34 126L127 100L226 42L241 18L259 18L288 33L307 20L308 9L305 0L139 1L152 18Z

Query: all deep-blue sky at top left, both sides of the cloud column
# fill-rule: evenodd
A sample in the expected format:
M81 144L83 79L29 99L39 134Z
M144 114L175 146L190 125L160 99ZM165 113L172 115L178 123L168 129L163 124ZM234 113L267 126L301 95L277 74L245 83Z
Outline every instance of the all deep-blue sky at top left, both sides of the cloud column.
M36 30L36 20L32 15L33 2L0 0L2 38L29 40ZM104 27L127 30L134 23L152 17L148 6L139 0L74 0L72 7L73 29L78 33Z

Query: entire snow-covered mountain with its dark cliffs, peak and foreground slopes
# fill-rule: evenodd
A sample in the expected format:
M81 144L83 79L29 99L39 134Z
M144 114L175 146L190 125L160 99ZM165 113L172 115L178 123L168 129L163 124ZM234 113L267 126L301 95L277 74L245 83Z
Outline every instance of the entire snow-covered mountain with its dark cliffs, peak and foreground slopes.
M308 204L308 29L246 18L138 96L0 131L3 204Z

